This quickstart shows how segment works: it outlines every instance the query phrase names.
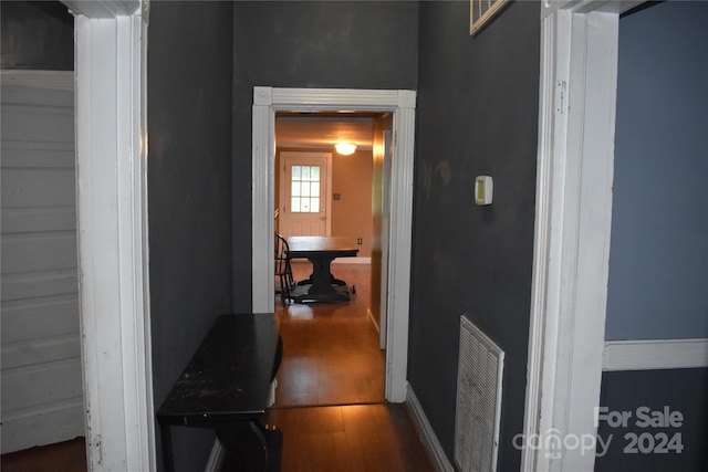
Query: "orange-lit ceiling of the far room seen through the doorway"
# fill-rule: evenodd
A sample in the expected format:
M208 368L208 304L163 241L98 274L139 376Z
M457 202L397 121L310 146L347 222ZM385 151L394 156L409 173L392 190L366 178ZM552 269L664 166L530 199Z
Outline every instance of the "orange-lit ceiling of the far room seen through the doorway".
M278 147L333 148L335 143L351 141L361 149L371 149L371 117L278 117Z

